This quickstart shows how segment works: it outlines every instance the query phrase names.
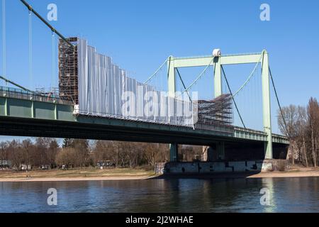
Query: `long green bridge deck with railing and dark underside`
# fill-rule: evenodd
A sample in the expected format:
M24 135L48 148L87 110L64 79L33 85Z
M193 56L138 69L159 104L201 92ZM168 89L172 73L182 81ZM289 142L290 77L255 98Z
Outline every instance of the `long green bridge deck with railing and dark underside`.
M194 130L181 126L130 121L118 118L75 116L74 106L34 94L0 92L1 135L45 136L128 140L153 143L207 145L214 141L267 141L267 134L245 128L234 133ZM274 143L289 144L286 137L272 135Z

